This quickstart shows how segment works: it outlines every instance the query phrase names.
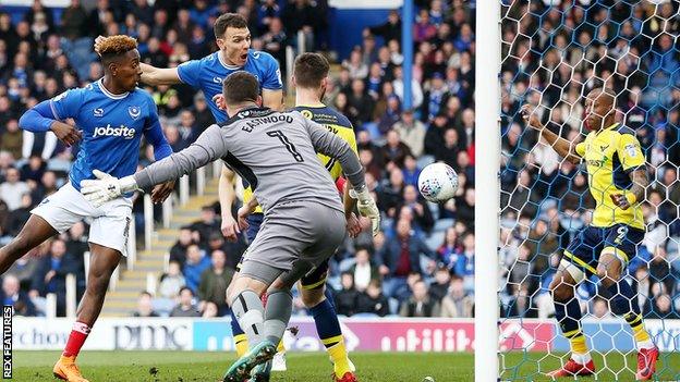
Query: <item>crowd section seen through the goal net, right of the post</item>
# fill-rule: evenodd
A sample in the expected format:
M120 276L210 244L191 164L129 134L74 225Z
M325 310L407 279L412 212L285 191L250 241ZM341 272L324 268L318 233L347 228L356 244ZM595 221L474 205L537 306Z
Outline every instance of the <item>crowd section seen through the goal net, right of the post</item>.
M617 121L635 131L649 178L642 204L646 235L626 278L638 291L635 303L646 317L678 318L679 4L544 3L514 2L503 10L503 315L552 315L548 285L561 250L576 230L590 223L595 206L584 167L562 161L525 126L518 110L524 102L539 106L547 128L581 140L582 95L604 84L617 95ZM607 315L596 279L584 283L578 296L584 312Z

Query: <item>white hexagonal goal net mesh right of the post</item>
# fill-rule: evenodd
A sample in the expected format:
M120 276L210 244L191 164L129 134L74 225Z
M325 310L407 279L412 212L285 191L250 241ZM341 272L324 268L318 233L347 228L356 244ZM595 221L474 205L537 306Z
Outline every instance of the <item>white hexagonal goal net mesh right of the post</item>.
M633 130L640 141L649 182L641 201L644 238L622 278L661 350L657 375L680 378L680 359L670 354L680 349L679 5L501 1L502 380L542 380L569 359L570 343L554 319L549 285L567 259L564 249L593 222L595 207L588 190L594 171L588 175L586 164L561 158L526 126L520 108L534 106L546 128L583 141L585 96L603 87L616 94L619 126ZM575 298L597 379L634 380L632 331L611 313L599 279L581 282Z

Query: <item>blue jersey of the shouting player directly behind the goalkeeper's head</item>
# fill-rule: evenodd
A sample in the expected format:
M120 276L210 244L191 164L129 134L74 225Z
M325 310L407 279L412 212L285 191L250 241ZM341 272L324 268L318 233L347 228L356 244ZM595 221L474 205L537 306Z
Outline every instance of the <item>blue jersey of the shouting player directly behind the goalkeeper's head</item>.
M201 60L192 60L178 66L180 79L203 90L215 121L229 120L227 112L220 110L212 97L222 94L222 82L233 72L246 71L257 78L263 89L279 90L283 88L279 62L269 53L250 49L244 66L232 66L222 61L219 51Z

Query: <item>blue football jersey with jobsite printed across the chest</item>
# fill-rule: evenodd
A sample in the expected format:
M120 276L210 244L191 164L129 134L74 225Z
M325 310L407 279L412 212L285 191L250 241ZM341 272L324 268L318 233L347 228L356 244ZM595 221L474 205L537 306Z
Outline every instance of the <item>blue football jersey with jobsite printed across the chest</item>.
M83 132L81 149L69 174L78 190L82 180L94 178L95 169L116 177L134 174L142 135L161 128L156 103L147 91L136 88L113 95L101 85L101 79L66 90L49 104L54 119L71 118Z

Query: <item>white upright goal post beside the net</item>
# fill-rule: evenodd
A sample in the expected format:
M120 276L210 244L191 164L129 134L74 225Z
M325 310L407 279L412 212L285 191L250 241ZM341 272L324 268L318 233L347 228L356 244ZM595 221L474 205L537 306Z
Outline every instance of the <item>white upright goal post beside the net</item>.
M498 379L500 2L476 3L475 381Z

